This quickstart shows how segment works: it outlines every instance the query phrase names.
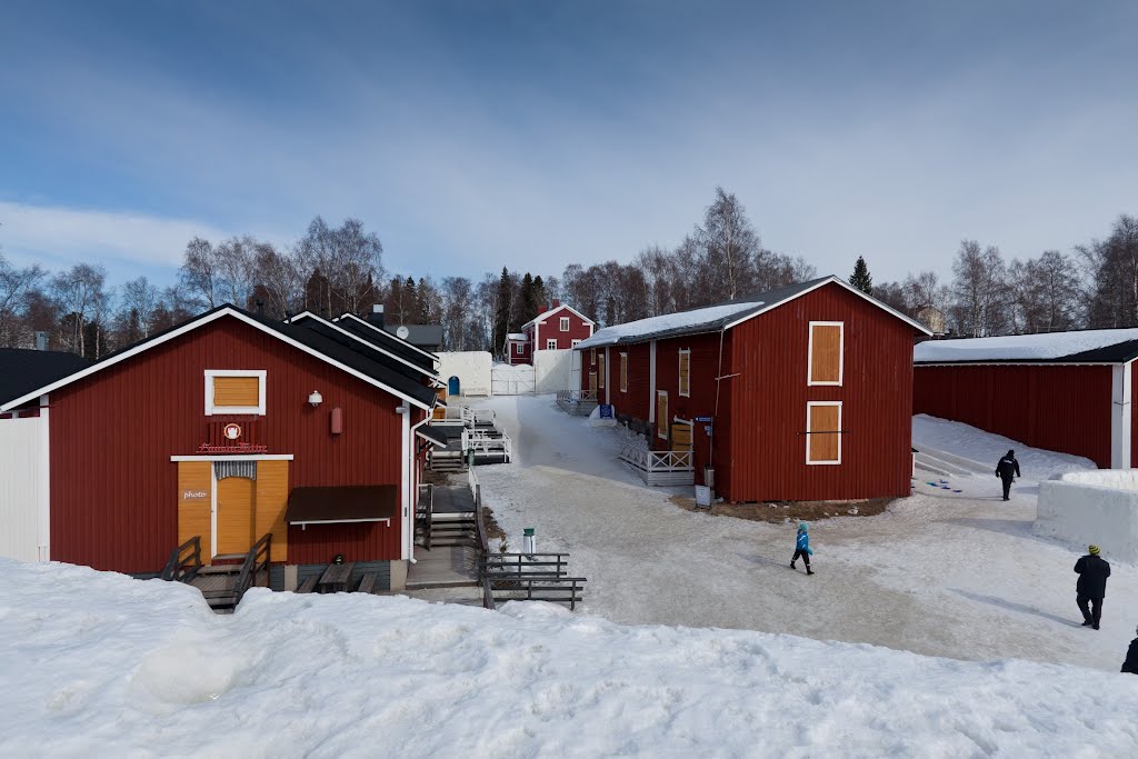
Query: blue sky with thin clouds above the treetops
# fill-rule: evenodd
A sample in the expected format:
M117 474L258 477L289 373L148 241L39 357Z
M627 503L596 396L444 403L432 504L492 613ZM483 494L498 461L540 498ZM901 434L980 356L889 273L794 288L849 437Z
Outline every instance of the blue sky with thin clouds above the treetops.
M1132 2L51 2L0 24L0 247L377 231L401 273L628 261L716 185L822 273L1138 213Z

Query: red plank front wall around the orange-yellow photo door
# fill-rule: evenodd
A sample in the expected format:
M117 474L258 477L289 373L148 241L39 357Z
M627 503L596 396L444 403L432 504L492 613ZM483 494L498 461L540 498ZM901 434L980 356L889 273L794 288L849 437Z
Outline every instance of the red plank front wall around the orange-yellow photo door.
M178 464L205 439L206 369L264 369L270 453L289 487L399 485L399 399L232 317L201 327L50 396L51 558L96 569L162 569L178 541ZM308 394L323 404L313 409ZM333 407L344 432L329 431ZM212 419L221 419L214 416ZM401 555L390 527L290 528L289 563ZM335 545L335 551L330 547Z

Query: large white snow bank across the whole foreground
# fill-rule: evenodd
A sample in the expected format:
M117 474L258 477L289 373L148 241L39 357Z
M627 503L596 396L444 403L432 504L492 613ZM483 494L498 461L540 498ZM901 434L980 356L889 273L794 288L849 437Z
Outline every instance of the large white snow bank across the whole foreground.
M0 562L5 756L1133 756L1138 678Z

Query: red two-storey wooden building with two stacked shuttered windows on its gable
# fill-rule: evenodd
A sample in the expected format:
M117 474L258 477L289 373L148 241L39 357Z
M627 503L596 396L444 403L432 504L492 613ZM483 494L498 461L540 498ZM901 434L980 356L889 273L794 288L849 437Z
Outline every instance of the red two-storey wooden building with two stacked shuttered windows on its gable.
M901 496L918 333L827 277L602 329L577 346L580 389L729 501Z

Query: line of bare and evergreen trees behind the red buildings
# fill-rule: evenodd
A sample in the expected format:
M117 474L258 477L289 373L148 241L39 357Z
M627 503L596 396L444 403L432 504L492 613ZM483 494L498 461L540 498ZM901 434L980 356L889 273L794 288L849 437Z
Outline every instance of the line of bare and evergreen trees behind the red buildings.
M629 263L569 264L560 275L503 269L480 280L415 279L389 274L382 254L379 236L358 220L331 226L319 216L288 246L248 236L195 238L178 281L162 288L145 277L108 287L106 270L90 264L56 273L20 269L0 251L0 345L32 347L42 331L53 349L98 358L222 303L270 319L362 314L382 304L390 324L442 323L448 350L500 353L506 333L553 300L604 327L816 277L802 257L765 248L739 199L721 188L678 245L646 247ZM956 335L1136 327L1138 218L1122 215L1102 240L1023 261L964 240L947 282L923 271L874 284L864 258L851 281Z

